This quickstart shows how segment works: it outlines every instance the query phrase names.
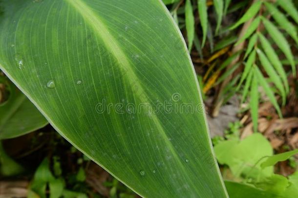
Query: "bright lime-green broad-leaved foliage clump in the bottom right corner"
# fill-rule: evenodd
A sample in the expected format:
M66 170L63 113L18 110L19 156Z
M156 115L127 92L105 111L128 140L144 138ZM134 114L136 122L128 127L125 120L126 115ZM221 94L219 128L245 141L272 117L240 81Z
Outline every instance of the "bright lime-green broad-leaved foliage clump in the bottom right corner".
M273 155L269 141L254 133L239 141L237 137L220 141L214 147L220 164L226 164L237 181L225 181L231 198L289 198L298 195L298 174L284 177L273 172L278 161L288 159L298 150Z

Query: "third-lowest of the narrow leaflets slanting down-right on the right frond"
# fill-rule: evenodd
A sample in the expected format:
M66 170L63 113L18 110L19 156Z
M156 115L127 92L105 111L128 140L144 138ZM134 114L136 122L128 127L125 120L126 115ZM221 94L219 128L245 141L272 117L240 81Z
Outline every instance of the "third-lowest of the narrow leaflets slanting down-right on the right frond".
M271 46L269 41L261 33L258 34L258 37L260 38L260 42L262 44L263 50L266 53L266 56L268 57L271 64L277 70L277 73L279 74L280 78L283 81L284 87L286 88L286 93L288 93L289 92L288 78L287 78L285 70L283 69L282 64L279 61L279 58L278 58L275 50L273 49L273 47Z

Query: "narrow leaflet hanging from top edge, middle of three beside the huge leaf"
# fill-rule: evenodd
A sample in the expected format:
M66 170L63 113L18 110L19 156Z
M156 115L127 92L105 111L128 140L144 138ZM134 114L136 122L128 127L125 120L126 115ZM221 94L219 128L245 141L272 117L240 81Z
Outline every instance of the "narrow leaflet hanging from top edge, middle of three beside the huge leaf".
M200 22L203 30L203 41L202 47L204 47L207 37L207 29L208 29L208 15L207 15L207 4L206 0L198 0L198 11L200 16Z

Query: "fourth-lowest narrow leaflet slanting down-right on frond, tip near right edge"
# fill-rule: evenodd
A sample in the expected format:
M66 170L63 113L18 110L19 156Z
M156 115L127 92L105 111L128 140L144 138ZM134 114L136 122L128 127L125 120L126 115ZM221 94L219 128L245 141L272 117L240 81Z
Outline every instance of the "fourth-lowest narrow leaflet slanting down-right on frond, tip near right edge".
M280 50L286 55L287 59L290 61L293 75L296 75L296 66L294 62L294 57L290 48L289 43L284 38L282 33L277 29L277 27L270 21L268 21L265 18L262 18L262 21L265 25L265 28L267 29L268 33L274 40L274 42L277 44L277 46L280 48Z

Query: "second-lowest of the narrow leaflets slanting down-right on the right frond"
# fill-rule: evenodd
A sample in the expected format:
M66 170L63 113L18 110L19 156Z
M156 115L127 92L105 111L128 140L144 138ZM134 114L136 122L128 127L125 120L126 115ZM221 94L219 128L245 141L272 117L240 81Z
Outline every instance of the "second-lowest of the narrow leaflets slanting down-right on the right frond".
M280 80L280 77L277 75L277 72L275 71L275 69L267 59L266 55L260 49L256 49L256 52L258 54L260 62L264 67L266 73L269 75L270 79L279 90L280 95L282 97L282 104L284 105L286 102L286 91L282 84L282 81Z

